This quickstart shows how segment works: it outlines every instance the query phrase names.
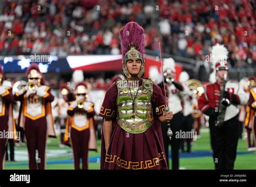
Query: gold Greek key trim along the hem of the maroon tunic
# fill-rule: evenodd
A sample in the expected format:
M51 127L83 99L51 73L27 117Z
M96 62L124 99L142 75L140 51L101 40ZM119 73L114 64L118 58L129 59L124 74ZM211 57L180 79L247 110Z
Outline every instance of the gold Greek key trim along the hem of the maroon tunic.
M159 166L160 161L165 160L164 152L158 153L158 157L151 160L131 162L120 159L117 155L106 154L105 162L115 163L117 166L124 169L148 169Z

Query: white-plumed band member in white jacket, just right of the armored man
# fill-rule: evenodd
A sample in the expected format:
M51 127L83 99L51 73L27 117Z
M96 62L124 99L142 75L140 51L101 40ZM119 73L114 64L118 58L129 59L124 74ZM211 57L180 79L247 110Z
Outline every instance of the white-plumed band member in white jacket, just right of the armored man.
M166 125L162 124L162 132L163 132L163 139L164 139L164 146L165 146L165 154L166 157L169 156L169 145L171 144L172 147L172 169L179 169L179 148L181 143L181 137L176 136L177 132L180 133L182 126L181 121L183 119L182 106L181 106L181 98L184 96L183 91L184 87L178 81L175 80L175 62L172 58L164 59L164 79L167 84L167 100L168 106L172 108L173 112L173 119L171 120L171 127L173 136L170 140L169 137L166 135ZM158 84L161 90L164 90L163 83ZM168 163L169 166L169 163Z

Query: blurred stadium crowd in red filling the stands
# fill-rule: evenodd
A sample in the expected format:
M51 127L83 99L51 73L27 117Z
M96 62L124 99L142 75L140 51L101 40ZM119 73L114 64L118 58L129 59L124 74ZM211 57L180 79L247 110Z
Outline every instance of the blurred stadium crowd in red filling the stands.
M256 9L231 0L24 0L0 8L0 55L120 54L120 29L129 21L145 28L146 49L204 59L217 42L232 67L255 66Z

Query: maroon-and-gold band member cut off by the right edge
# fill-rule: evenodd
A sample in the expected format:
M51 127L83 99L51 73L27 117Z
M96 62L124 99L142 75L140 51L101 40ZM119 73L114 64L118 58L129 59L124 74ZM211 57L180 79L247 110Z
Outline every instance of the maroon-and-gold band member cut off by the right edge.
M247 146L248 150L256 150L256 77L250 76L247 81L247 88L250 97L246 107L245 128L247 133ZM252 139L251 139L252 134Z

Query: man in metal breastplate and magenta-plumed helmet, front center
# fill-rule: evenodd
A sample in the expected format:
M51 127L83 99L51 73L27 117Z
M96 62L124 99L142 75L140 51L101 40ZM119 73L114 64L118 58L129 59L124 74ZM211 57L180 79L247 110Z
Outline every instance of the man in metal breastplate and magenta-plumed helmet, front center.
M125 79L106 91L100 110L104 118L100 168L167 169L160 122L172 119L172 112L164 112L160 88L143 78L144 29L131 21L119 35Z

